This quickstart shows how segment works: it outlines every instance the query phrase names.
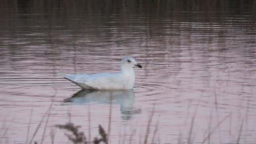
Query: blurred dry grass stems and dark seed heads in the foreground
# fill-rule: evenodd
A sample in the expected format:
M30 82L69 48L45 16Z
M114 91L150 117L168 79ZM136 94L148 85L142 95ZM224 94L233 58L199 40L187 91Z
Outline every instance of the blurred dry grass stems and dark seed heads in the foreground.
M216 96L215 96L215 98L216 98ZM67 133L65 132L64 135L73 144L100 144L100 143L102 143L102 144L110 144L111 143L111 141L109 141L111 136L108 135L108 134L110 134L110 131L111 131L111 116L112 116L112 103L111 102L110 102L109 122L108 122L108 130L107 130L108 133L99 124L98 125L98 134L99 134L100 137L95 136L92 141L91 141L91 128L90 128L90 126L89 126L89 130L88 130L88 134L85 134L84 132L80 131L79 128L81 128L81 126L76 126L76 124L74 124L72 122L68 122L66 124L55 124L54 126L49 126L48 122L49 122L50 112L51 112L51 109L52 109L53 102L54 101L52 100L52 103L50 104L50 106L49 106L48 110L46 111L46 113L44 114L44 116L42 116L42 119L41 119L40 123L38 124L36 130L34 131L32 137L29 138L28 135L30 133L30 123L31 123L31 117L32 117L33 108L31 109L30 120L29 120L29 123L28 123L28 129L27 129L27 138L26 138L25 144L43 144L44 143L44 139L46 138L45 134L46 134L46 129L47 128L50 128L50 138L51 138L51 143L52 144L54 144L54 136L55 136L54 128L59 128L59 129L62 129L62 130L66 130ZM216 112L218 112L217 104L218 104L218 102L217 102L217 99L216 99L216 102L215 102ZM190 105L191 105L191 102L190 102L190 104L188 106L188 109L190 108ZM188 137L187 138L184 137L183 133L180 131L179 135L178 135L178 142L177 142L177 144L194 144L194 143L198 143L198 144L206 144L206 143L208 143L208 144L210 144L211 143L211 136L212 136L212 134L214 134L214 132L217 132L217 129L220 127L220 124L222 124L228 118L230 118L230 122L232 121L231 120L232 113L230 113L230 114L226 115L224 118L221 118L221 120L219 120L219 118L218 118L218 124L212 126L212 112L211 112L211 114L210 114L210 122L209 122L209 125L208 125L208 128L209 128L208 129L208 133L205 134L204 139L202 141L195 142L194 141L194 137L195 136L193 135L194 134L193 126L194 126L194 120L196 118L196 113L197 113L197 110L198 110L198 106L199 106L199 102L196 105L194 114L192 116L192 120L190 122L190 128L187 130ZM244 121L247 121L247 118L248 118L248 109L249 109L249 102L248 102L248 106L247 106L247 112L246 112L246 114L245 114L244 118L242 119L242 122L241 122L241 124L239 126L240 129L239 129L238 135L235 136L236 140L232 140L232 142L230 142L232 144L233 143L234 144L240 144L240 140L241 140L241 136L242 136L242 131L243 131L243 126L244 126ZM152 111L151 111L149 119L148 119L148 124L146 126L146 133L145 133L144 136L140 136L140 138L141 138L141 140L139 142L140 144L162 144L159 139L156 142L156 135L157 135L157 132L158 132L158 122L156 123L156 125L154 125L154 126L152 125L152 118L153 118L154 114L155 114L155 105L153 105ZM71 114L69 114L69 116L71 117ZM88 116L89 116L89 124L90 124L90 107L89 107ZM44 121L45 118L46 118L46 120ZM186 118L186 120L187 120L187 118ZM44 127L42 126L43 123L45 123ZM2 126L1 131L3 133L0 136L0 143L2 143L3 141L5 141L6 144L12 143L12 142L8 142L8 140L4 140L6 138L6 134L8 133L8 128L11 126L11 124L12 124L12 122L10 122L10 124L7 127ZM42 139L41 139L41 141L34 140L35 136L38 135L38 130L40 128L44 129L43 133L40 134L40 135L42 135ZM231 127L230 127L230 131L231 131ZM131 133L131 135L130 135L130 138L129 138L128 142L129 142L129 144L132 144L134 135L136 134L136 130L135 129L131 130L130 133ZM151 141L148 140L149 134L153 135ZM86 135L88 135L88 137L86 137ZM119 144L127 143L126 137L128 137L128 135L124 136L122 142L120 140L120 138L121 138L120 137L119 138Z

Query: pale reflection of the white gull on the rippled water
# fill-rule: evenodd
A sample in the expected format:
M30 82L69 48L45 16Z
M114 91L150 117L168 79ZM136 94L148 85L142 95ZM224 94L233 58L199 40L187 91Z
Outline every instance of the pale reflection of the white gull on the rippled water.
M134 90L86 90L82 89L73 94L71 98L64 99L64 102L73 104L120 104L122 119L129 120L134 114L140 113L140 109L134 110Z

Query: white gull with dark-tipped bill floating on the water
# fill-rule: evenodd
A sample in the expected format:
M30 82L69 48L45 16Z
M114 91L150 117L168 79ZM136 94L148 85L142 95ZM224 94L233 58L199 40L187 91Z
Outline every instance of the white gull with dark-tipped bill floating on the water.
M142 68L134 58L126 56L121 61L121 72L119 73L59 74L83 89L128 90L134 86L134 66Z

